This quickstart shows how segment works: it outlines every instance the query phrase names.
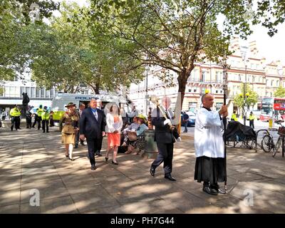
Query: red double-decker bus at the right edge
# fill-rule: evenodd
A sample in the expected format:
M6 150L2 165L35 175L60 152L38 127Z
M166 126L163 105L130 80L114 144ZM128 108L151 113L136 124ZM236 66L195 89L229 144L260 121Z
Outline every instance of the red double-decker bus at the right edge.
M285 119L285 98L262 98L261 100L261 121Z

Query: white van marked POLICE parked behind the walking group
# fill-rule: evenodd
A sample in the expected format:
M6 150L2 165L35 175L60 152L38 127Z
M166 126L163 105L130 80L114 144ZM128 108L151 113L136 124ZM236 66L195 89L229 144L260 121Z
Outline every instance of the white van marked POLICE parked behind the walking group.
M124 108L125 112L130 112L130 103L131 101L128 98L123 97L122 95L89 95L89 94L76 94L76 93L57 93L53 96L51 101L51 110L53 111L53 121L55 125L58 125L59 120L61 120L63 113L67 111L65 106L68 103L76 104L76 108L79 108L80 103L84 103L86 108L90 103L91 98L100 100L98 103L98 108L104 109L105 105L108 103L116 103L120 108Z

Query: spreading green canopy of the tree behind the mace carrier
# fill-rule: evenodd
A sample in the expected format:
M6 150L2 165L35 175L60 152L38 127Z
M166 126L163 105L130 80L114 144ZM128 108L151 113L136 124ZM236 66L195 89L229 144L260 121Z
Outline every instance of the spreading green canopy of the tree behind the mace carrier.
M115 51L138 66L153 65L177 74L178 92L185 95L195 63L219 62L229 54L232 34L252 31L244 14L247 1L146 0L91 1L90 26L95 37L121 43ZM217 16L224 15L224 33ZM133 66L136 68L136 66ZM181 108L181 107L180 107Z

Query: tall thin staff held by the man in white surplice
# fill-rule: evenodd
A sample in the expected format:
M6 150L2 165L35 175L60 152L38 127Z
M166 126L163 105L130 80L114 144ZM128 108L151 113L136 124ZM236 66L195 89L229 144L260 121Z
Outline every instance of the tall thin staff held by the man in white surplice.
M224 90L224 105L227 105L227 55L223 58L223 90ZM226 146L226 128L227 118L223 117L224 123L224 190L227 192L227 146Z

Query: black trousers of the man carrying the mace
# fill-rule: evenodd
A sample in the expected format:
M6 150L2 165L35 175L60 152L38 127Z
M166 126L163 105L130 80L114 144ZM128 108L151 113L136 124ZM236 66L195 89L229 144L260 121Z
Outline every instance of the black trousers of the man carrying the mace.
M173 158L173 143L158 143L158 155L152 162L151 167L156 169L163 162L163 169L165 175L170 175L172 172L172 158Z

